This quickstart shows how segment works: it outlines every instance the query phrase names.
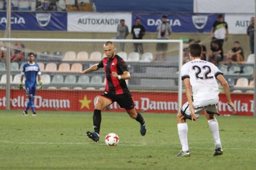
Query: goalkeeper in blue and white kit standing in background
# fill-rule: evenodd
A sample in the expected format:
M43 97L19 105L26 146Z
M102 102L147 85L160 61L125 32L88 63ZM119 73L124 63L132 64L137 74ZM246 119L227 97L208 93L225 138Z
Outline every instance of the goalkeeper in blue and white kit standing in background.
M20 77L20 86L19 89L23 90L23 78L25 76L25 90L26 90L26 94L28 97L28 103L27 106L25 108L25 110L23 111L23 115L28 116L28 109L31 107L31 110L33 112L33 116L36 116L36 111L35 111L35 107L34 107L34 101L33 98L35 97L36 94L36 76L38 76L38 81L39 81L39 87L40 89L42 88L42 80L41 80L41 71L39 68L39 65L37 63L35 63L35 54L33 54L33 52L28 54L28 63L25 63L25 65L23 66L23 70L22 70L22 76Z

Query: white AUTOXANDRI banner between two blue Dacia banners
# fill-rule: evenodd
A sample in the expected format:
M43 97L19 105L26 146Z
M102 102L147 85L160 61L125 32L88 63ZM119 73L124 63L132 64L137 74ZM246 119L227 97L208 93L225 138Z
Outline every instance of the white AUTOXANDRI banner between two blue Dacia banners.
M116 33L121 19L126 21L130 31L131 18L131 13L124 12L69 12L67 14L67 31Z

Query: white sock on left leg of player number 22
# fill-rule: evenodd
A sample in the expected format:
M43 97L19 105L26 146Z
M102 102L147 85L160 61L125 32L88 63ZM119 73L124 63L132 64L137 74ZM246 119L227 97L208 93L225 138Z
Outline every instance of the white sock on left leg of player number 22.
M189 128L187 127L187 123L178 123L177 129L179 140L181 140L182 151L186 152L189 150L189 145L187 144L187 132L189 131Z

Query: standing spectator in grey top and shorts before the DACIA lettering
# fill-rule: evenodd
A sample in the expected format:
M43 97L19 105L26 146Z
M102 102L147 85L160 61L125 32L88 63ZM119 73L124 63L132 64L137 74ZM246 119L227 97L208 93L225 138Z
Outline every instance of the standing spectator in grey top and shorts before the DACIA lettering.
M157 26L156 30L158 30L157 39L169 39L169 36L171 35L171 25L169 25L169 23L167 23L166 15L163 15L162 23L160 23ZM162 61L164 62L166 59L166 51L167 50L168 50L167 43L156 44L156 57L154 59L154 62L158 61L159 55L162 55Z

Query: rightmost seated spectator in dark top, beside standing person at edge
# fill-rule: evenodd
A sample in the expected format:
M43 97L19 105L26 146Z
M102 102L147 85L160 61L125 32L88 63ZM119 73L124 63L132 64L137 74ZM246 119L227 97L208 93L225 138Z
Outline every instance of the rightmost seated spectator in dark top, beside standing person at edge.
M244 52L239 41L234 42L234 47L228 51L227 58L229 63L244 63Z

